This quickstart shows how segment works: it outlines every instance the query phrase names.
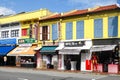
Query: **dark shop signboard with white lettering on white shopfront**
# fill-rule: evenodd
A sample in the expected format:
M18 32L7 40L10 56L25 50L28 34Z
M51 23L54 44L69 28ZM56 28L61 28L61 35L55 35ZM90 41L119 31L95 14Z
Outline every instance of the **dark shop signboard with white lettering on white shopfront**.
M71 41L71 42L65 42L65 47L78 47L78 46L84 46L85 41Z

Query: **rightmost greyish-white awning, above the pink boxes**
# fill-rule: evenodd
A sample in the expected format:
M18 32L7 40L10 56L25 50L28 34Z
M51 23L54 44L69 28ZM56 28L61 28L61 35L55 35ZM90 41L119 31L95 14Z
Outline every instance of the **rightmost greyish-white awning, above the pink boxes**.
M109 51L113 50L116 45L94 45L90 49L91 52L98 52L98 51Z

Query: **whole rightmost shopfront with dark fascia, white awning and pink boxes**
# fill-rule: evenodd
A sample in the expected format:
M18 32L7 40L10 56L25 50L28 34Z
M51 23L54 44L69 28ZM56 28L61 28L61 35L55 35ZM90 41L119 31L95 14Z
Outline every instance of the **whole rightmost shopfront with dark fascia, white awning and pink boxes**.
M119 72L118 42L118 39L93 40L90 51L98 56L98 72Z

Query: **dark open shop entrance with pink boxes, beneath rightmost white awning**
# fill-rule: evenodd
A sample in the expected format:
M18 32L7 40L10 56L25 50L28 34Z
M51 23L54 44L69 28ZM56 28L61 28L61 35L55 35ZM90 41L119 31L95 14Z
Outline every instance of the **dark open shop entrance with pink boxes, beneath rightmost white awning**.
M119 58L117 54L113 50L109 51L101 51L101 52L94 52L96 56L98 56L98 65L97 65L97 71L99 72L118 72L118 63ZM111 71L111 66L115 66L113 68L114 71Z

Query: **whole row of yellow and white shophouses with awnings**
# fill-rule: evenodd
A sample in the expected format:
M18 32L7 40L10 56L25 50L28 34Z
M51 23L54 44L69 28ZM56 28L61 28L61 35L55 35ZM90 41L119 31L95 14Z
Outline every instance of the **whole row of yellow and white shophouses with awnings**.
M0 18L0 53L7 64L41 69L118 73L120 8L98 6L66 13L42 9Z

